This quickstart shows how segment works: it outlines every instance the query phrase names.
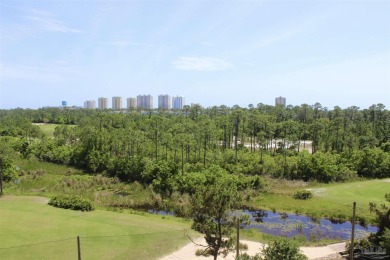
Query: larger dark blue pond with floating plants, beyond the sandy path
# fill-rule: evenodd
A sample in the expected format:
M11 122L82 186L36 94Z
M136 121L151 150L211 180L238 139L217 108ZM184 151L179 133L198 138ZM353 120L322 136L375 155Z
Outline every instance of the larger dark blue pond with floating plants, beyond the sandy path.
M316 241L321 238L350 239L352 224L349 221L335 223L328 219L321 218L312 220L308 216L277 213L272 211L244 211L251 219L251 224L246 229L258 229L263 233L292 237L303 235L307 239ZM366 227L355 224L355 237L362 238L371 232L376 233L377 227L368 225Z

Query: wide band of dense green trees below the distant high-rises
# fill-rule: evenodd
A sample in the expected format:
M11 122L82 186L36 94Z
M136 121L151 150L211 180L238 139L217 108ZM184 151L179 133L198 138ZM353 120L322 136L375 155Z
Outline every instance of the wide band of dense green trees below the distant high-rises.
M31 123L61 125L54 137L45 137ZM7 142L26 157L154 184L164 192L202 182L186 178L211 167L235 176L320 182L390 177L390 111L382 104L332 110L318 103L195 105L174 112L0 110L0 134L18 137ZM261 186L259 181L241 185Z

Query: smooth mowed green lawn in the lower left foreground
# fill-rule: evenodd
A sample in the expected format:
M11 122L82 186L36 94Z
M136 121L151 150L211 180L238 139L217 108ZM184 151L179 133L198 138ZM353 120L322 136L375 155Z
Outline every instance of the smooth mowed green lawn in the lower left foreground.
M189 242L190 222L184 220L73 211L51 207L47 201L0 198L1 259L75 259L77 236L83 259L157 259Z

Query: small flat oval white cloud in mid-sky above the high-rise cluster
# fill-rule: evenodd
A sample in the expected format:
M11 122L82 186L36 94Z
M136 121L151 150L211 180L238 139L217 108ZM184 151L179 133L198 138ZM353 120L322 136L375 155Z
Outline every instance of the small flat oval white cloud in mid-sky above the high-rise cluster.
M179 57L172 64L178 70L217 71L233 67L227 61L210 57Z

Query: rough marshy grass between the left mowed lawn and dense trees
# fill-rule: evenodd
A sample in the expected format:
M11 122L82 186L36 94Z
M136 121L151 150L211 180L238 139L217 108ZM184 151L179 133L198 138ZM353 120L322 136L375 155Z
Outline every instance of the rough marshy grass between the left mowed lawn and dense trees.
M20 168L19 179L5 184L5 194L44 197L72 194L90 199L97 208L150 209L161 200L149 187L137 182L121 183L116 178L89 175L72 167L42 162L36 158L15 156L13 160Z

